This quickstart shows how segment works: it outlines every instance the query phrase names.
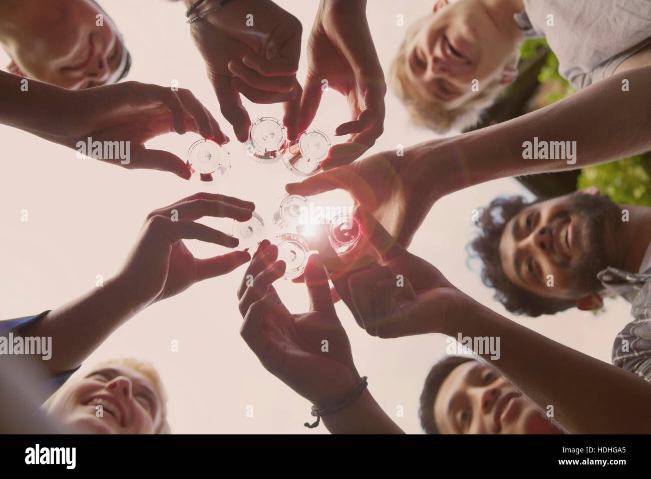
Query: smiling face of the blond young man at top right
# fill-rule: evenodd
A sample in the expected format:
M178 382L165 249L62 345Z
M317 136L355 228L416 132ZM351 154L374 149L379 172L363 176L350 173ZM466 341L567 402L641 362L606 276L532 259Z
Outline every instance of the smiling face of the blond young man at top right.
M407 45L406 76L413 93L450 108L464 103L471 82L479 87L501 77L514 54L512 42L477 0L439 0Z

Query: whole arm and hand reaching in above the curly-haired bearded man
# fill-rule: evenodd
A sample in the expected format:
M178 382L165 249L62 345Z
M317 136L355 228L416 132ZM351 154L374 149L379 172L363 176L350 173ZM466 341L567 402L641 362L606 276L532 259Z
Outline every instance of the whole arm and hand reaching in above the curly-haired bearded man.
M628 80L629 90L622 91ZM385 151L286 186L309 196L343 188L409 246L432 205L467 186L576 169L651 150L651 66L628 70L546 108L451 138ZM523 158L523 143L575 141L574 159ZM532 145L533 147L533 145ZM404 154L403 154L404 153Z

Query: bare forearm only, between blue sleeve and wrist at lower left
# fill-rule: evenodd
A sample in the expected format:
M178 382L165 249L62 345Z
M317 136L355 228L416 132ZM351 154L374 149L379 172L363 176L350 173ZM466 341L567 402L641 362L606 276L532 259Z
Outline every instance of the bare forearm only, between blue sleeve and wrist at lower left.
M135 300L132 288L111 279L20 328L18 333L23 337L52 338L51 358L42 360L41 366L57 375L77 368L113 331L145 306Z

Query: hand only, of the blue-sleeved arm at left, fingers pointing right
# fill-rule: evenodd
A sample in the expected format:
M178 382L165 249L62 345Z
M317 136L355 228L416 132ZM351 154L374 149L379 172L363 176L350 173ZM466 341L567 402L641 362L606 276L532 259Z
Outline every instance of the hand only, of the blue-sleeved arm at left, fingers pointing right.
M249 261L251 255L235 251L198 259L187 250L182 239L198 239L233 248L238 245L237 239L195 220L216 216L246 221L254 208L249 201L198 193L152 211L118 278L132 285L141 295L141 302L151 304L178 295L196 282L227 274Z

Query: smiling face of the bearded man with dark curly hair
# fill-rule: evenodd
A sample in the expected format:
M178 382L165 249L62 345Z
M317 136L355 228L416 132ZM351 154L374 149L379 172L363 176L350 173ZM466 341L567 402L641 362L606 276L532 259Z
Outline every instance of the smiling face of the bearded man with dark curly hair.
M602 289L596 274L618 267L618 207L607 197L570 194L523 209L499 244L508 279L542 297L577 299ZM552 275L553 278L549 275Z

